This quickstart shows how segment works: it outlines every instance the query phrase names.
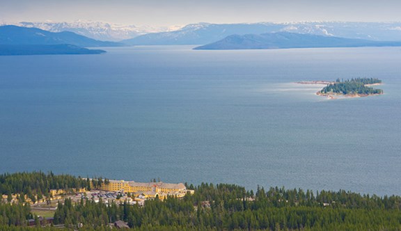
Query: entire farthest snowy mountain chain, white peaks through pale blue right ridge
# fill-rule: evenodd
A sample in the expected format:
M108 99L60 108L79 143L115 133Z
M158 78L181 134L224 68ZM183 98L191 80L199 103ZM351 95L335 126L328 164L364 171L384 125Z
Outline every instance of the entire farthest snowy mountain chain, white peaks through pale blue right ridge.
M7 24L6 22L0 22ZM253 24L198 23L187 26L134 26L104 22L17 22L17 26L50 32L70 31L95 40L121 41L129 45L205 45L228 35L273 32L308 33L365 40L401 40L401 22L260 22Z

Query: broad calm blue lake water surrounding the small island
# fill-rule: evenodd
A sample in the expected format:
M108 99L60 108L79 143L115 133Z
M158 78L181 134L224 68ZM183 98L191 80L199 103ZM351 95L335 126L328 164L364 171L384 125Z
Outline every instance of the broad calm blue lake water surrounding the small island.
M401 195L400 48L107 51L0 56L0 172Z

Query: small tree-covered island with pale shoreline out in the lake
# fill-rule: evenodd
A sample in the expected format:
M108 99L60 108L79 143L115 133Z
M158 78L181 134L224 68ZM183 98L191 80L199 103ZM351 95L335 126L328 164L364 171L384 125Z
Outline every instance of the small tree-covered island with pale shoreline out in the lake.
M329 83L317 95L333 96L344 95L350 97L365 97L370 95L382 95L382 89L371 88L372 85L379 85L382 80L375 78L352 78L336 79L334 83Z

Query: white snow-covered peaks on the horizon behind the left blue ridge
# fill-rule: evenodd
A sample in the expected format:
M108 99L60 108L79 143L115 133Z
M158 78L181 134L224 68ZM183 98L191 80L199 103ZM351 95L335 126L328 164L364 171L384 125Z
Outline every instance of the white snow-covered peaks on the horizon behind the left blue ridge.
M157 33L165 31L173 31L180 29L180 26L171 27L151 27L151 26L134 26L109 24L104 22L17 22L1 24L35 27L50 32L71 31L88 38L104 41L120 41L128 38L135 38L138 35L146 33Z

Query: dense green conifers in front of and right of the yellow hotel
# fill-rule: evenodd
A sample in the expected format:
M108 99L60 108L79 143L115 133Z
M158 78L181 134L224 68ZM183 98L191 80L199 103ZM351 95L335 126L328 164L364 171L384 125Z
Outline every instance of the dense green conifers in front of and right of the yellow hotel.
M147 200L144 207L92 200L59 205L56 223L100 228L123 220L134 230L400 230L399 196L258 187L254 197L233 184L201 184L182 200ZM68 222L67 222L68 221Z

